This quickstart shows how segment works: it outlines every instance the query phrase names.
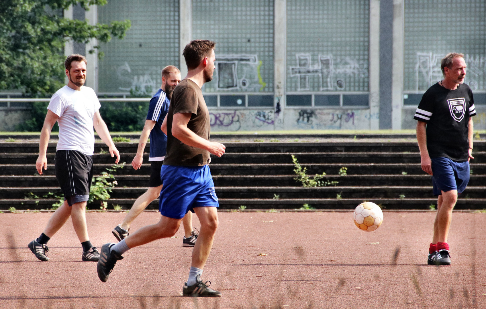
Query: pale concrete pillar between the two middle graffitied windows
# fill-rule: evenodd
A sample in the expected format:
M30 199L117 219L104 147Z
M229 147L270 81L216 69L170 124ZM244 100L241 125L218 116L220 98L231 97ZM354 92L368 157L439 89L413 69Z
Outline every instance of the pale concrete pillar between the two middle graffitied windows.
M285 109L287 49L287 1L274 1L274 85L275 85L275 130L283 130L283 113ZM277 113L278 112L278 113ZM278 119L279 118L279 119Z

